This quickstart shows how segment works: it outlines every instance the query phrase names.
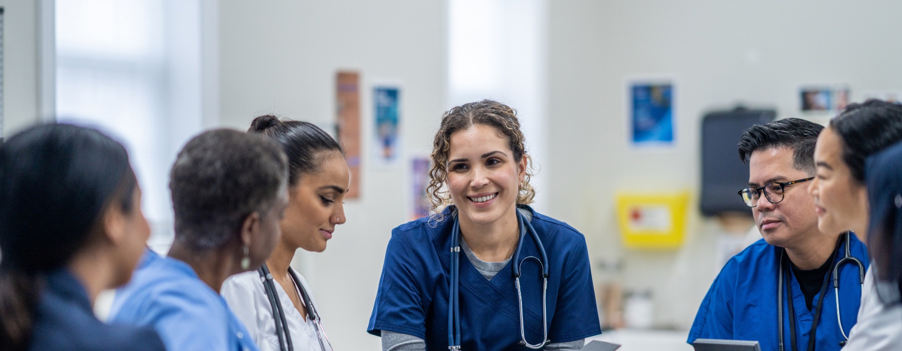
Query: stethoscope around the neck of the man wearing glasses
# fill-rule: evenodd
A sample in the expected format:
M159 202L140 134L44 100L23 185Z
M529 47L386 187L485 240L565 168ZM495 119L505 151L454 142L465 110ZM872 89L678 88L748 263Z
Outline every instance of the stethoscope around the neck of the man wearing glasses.
M861 289L861 284L864 283L864 263L851 255L851 232L846 232L843 234L843 240L845 240L845 250L842 255L842 258L833 264L833 272L831 272L831 277L833 280L833 297L836 299L836 321L839 323L840 333L842 333L842 341L840 342L840 346L845 346L846 341L849 340L849 337L846 336L845 330L842 329L842 317L840 316L840 267L844 263L854 263L858 266L858 278L859 278L859 289ZM833 254L830 255L830 261L836 258L837 250L833 251ZM789 270L787 269L784 273L784 266L788 266L788 260L784 263L784 257L786 256L786 250L781 250L780 252L780 269L779 269L779 278L777 284L777 333L779 340L779 351L784 351L783 344L783 282L789 280ZM811 332L808 335L808 350L815 349L815 334L817 332L817 323L821 317L821 309L824 308L824 295L827 292L827 283L830 280L824 280L824 285L821 287L820 299L817 301L817 307L815 308L815 319L812 321ZM789 287L787 283L787 287ZM791 294L791 288L787 291L787 294ZM796 311L793 307L792 298L787 299L787 307L789 308L789 324L791 328L789 329L789 342L792 347L792 351L796 351Z

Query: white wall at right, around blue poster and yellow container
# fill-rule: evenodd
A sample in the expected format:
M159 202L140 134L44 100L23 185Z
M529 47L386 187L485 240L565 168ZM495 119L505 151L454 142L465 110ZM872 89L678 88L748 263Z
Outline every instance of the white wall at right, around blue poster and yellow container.
M549 3L549 215L587 236L593 262L625 261L624 285L654 291L659 326L688 328L719 270L714 241L722 229L697 211L706 109L741 101L799 116L802 84L848 83L853 98L902 88L897 1ZM676 76L674 150L628 145L624 78L637 74ZM669 189L694 194L686 245L623 249L615 191ZM606 278L597 270L594 277Z

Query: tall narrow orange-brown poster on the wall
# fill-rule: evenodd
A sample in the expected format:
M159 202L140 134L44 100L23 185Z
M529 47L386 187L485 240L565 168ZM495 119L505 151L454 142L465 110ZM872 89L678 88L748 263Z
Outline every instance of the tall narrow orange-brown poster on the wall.
M336 135L345 149L347 167L351 170L351 188L345 199L360 197L360 73L339 71L336 74Z

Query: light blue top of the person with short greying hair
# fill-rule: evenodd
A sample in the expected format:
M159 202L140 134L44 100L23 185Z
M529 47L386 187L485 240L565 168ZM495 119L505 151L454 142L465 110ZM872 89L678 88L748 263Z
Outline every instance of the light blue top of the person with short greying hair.
M116 291L110 320L151 326L166 349L258 351L216 291L188 263L147 249L132 282Z

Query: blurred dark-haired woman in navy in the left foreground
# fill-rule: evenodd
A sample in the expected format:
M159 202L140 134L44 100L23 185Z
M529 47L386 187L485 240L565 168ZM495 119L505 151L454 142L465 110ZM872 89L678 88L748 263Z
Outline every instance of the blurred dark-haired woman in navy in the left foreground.
M39 125L0 145L0 350L163 350L150 328L106 325L97 294L128 282L150 228L124 147Z

